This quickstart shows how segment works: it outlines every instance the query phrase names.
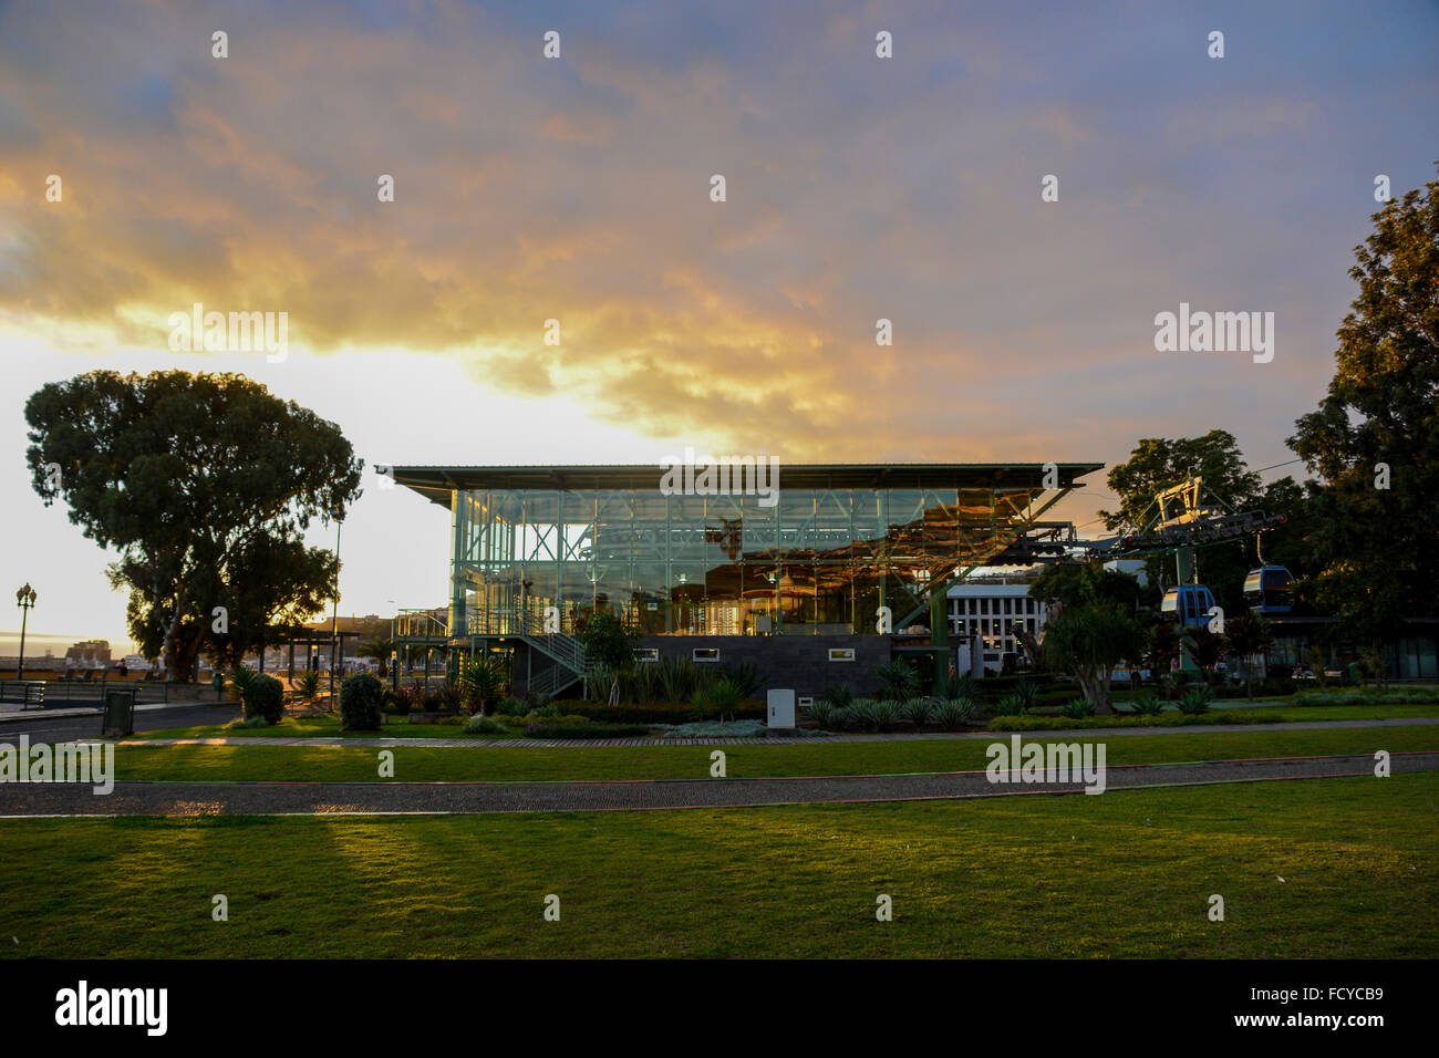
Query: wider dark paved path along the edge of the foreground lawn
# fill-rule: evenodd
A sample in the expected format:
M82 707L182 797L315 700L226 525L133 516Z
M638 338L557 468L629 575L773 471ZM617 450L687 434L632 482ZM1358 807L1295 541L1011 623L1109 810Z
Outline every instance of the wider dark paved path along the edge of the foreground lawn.
M1393 772L1439 772L1439 753L1396 753ZM1107 789L1373 776L1368 754L1128 764L1105 772ZM1376 782L1381 782L1377 780ZM984 772L803 779L705 779L570 783L117 783L0 785L0 818L199 815L472 815L750 808L763 805L940 800L1078 793L1082 783L999 785Z

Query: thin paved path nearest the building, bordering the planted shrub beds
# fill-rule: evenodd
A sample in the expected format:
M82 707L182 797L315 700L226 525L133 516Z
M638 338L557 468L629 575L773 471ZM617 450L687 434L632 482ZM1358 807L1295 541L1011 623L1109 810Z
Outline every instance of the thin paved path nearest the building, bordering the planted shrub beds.
M1009 738L1019 734L1025 738L1102 738L1108 734L1196 734L1204 731L1314 731L1334 727L1422 727L1439 725L1439 717L1396 717L1393 720L1298 720L1282 724L1191 724L1189 727L1089 727L1065 731L927 731L921 734L820 734L804 731L799 736L760 738L386 738L384 736L363 736L351 738L268 738L268 737L217 737L217 738L130 738L121 746L351 746L396 749L580 749L616 746L830 746L833 743L892 743L892 741L944 741L947 738ZM165 727L173 727L167 724ZM163 728L155 728L163 730Z

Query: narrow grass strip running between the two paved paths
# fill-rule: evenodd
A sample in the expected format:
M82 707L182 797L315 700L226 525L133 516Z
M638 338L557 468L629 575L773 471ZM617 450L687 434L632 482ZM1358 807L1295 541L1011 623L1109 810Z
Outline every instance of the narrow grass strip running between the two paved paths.
M803 743L727 746L731 777L814 774L902 774L980 770L991 738L930 741ZM1046 741L1043 733L1026 741ZM1161 764L1233 757L1298 757L1331 753L1439 750L1439 724L1390 728L1184 730L1176 734L1107 731L1065 741L1104 741L1109 764ZM399 782L524 782L577 779L705 779L707 746L643 747L396 747ZM376 782L378 751L360 746L122 746L118 779Z

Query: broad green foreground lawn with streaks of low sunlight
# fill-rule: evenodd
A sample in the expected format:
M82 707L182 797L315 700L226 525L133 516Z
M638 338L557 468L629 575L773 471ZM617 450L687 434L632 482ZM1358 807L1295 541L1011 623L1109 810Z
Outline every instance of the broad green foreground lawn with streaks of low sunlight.
M1423 773L666 813L4 820L0 957L1432 959L1436 812ZM894 921L875 920L878 894Z

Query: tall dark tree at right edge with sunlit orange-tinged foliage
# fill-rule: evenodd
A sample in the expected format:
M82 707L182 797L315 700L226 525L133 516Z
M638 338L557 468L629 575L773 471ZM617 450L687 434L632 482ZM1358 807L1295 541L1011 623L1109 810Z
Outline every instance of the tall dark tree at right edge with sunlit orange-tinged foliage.
M1368 643L1439 612L1439 181L1373 220L1334 379L1289 438L1320 476L1315 600Z

